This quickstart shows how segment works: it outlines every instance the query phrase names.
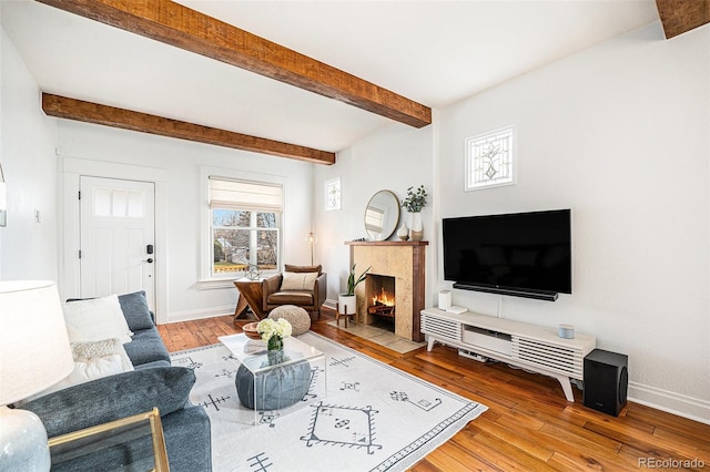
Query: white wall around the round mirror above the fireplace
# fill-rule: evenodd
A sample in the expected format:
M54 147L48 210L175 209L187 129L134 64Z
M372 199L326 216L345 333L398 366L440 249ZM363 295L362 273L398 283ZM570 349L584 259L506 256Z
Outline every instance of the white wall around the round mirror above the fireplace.
M328 300L337 300L345 291L349 264L349 246L345 242L367 237L365 232L365 207L369 198L382 189L388 189L402 201L407 188L424 185L432 192L433 176L433 126L415 130L394 124L365 137L337 155L336 164L316 166L314 173L314 230L318 243L315 246L316 264L323 264L328 274ZM325 182L341 177L342 208L325 212ZM432 198L422 212L424 240L427 247L427 302L436 289L436 236ZM399 225L409 226L409 214L400 211ZM399 227L399 226L397 226ZM395 239L393 235L390 239ZM357 274L367 267L357 267Z

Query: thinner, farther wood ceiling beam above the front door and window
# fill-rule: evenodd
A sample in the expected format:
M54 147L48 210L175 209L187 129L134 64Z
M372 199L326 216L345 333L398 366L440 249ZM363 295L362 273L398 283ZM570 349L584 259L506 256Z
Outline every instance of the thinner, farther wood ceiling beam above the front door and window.
M316 164L335 164L335 154L326 151L250 136L247 134L234 133L216 127L202 126L131 110L68 99L49 93L42 93L42 110L49 116L67 120L103 124L122 130L139 131L142 133L195 141L197 143L213 144L215 146L232 147L280 157L290 157Z

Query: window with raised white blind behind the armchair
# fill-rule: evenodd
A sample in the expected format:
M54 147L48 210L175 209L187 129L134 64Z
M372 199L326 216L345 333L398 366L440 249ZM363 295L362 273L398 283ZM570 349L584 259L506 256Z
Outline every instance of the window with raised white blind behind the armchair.
M283 187L210 176L209 193L212 275L234 277L250 266L277 269Z

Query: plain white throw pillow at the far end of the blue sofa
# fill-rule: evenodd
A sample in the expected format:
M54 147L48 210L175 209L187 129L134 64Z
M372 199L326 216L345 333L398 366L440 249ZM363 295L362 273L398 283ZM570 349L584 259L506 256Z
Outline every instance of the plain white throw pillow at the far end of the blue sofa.
M100 341L119 338L131 342L133 332L125 321L118 295L63 305L64 321L70 341Z

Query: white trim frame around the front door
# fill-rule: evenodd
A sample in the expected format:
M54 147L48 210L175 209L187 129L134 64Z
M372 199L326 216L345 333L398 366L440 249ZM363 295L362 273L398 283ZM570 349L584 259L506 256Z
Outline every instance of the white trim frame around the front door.
M79 181L81 175L152 182L155 184L155 317L168 322L168 172L162 168L58 156L59 205L59 291L62 299L77 298L80 290Z

